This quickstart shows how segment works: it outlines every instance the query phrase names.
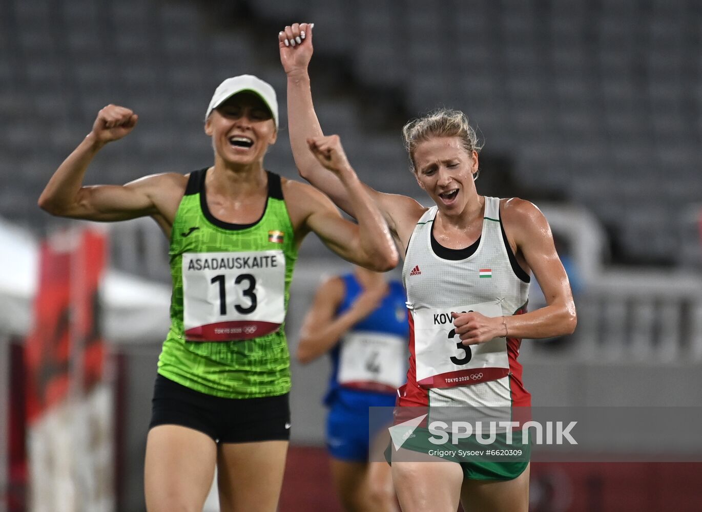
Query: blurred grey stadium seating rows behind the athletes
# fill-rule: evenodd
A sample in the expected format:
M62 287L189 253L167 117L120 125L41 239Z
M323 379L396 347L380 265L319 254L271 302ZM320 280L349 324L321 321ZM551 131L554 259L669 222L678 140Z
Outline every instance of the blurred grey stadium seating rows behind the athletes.
M398 11L388 0L364 1L358 9L341 0L304 8L239 1L222 19L206 15L211 3L204 1L11 0L2 46L18 54L4 52L0 59L0 113L13 123L0 145L6 167L0 187L6 196L33 202L41 176L50 175L107 102L133 107L143 130L131 136L135 141L120 142L122 170L98 159L88 180L121 182L204 165L209 144L198 123L209 90L225 76L253 72L278 86L284 106L275 27L305 18L317 23L320 58L349 63L336 83L313 69L314 92L324 128L345 137L373 186L416 192L411 180L397 180L406 167L397 149L401 121L398 116L392 129L369 126L365 112L376 109L373 97L340 95L343 80L356 90L397 91L406 119L439 106L464 109L482 129L486 151L513 162L510 172L528 185L527 198L555 195L591 208L611 236L623 237L613 244L625 248L615 252L616 261L675 264L680 247L665 231L699 198L702 75L699 9L673 4L484 0L446 1L437 9L412 1ZM261 48L264 41L270 48ZM46 168L11 172L30 152ZM294 175L286 140L271 161ZM373 173L376 168L383 172ZM638 220L609 215L600 209L601 195L619 201L621 187L590 194L573 181L583 176L643 184L644 194L630 199L663 205L655 208L662 217L649 223L651 244L629 243L640 236L636 226L647 224L648 210L638 212ZM661 190L674 192L675 200ZM0 215L34 229L48 222L15 201L0 204Z

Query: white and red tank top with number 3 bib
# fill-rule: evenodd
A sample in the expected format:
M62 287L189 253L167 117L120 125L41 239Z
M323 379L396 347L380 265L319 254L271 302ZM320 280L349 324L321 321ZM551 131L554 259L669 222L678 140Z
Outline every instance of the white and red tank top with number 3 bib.
M531 405L517 362L521 339L464 346L451 318L452 311L496 317L527 310L529 276L505 236L500 199L485 198L482 234L469 248L439 245L432 235L436 215L434 206L417 222L404 260L410 360L398 405Z

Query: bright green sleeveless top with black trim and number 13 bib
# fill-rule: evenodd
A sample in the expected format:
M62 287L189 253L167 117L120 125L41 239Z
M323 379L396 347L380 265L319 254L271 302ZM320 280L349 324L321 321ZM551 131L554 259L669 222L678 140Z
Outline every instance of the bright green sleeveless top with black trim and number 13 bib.
M208 395L282 395L290 390L284 320L298 252L280 176L267 173L257 222L230 224L207 207L206 172L190 174L171 229L171 329L158 372Z

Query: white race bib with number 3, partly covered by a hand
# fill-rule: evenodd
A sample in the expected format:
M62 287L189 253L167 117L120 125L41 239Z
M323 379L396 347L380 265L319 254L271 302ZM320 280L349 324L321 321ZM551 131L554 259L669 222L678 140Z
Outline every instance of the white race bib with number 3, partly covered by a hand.
M453 328L451 311L503 316L499 301L413 311L417 383L425 388L446 388L508 375L507 340L493 338L478 345L463 345Z

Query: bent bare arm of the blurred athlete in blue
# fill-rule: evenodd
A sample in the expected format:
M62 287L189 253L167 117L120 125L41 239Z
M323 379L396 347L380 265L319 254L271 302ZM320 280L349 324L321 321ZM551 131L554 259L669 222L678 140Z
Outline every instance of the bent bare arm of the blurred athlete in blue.
M298 361L306 364L329 351L347 330L375 311L385 292L382 287L364 290L349 309L337 316L336 311L344 298L344 282L340 277L333 277L322 284L300 330Z

